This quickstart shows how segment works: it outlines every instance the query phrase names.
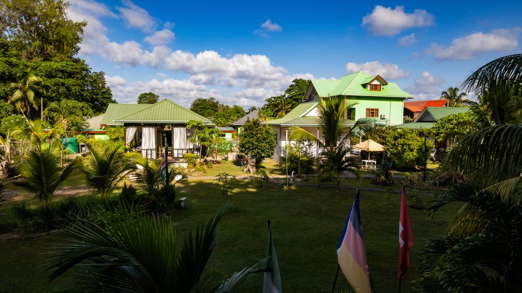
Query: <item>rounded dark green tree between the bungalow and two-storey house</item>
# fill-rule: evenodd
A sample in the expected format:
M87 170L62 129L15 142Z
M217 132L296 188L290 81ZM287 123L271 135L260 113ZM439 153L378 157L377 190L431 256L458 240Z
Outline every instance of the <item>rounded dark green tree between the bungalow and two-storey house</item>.
M256 164L260 164L265 157L274 155L276 147L274 135L274 131L268 125L263 125L261 120L249 118L239 135L239 151L254 156Z

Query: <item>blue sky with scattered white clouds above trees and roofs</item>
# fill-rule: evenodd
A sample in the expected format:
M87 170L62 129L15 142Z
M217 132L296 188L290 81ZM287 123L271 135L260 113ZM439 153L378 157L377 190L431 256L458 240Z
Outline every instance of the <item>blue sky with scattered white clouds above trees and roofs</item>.
M260 106L294 78L363 70L438 99L490 60L520 53L522 3L72 0L87 20L80 57L115 99L152 91L188 106Z

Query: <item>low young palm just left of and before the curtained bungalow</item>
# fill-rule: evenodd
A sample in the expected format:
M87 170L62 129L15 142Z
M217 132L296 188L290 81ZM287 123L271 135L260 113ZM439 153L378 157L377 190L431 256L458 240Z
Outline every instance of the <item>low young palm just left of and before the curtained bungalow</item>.
M120 148L98 150L88 145L89 165L80 168L87 186L96 189L105 203L106 197L117 187L135 166L129 163Z

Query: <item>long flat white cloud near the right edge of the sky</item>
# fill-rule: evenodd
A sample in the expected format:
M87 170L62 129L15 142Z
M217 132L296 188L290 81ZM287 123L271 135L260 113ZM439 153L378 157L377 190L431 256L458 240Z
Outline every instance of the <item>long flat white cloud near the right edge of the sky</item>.
M496 29L460 36L448 47L432 44L426 50L436 60L471 59L486 52L511 52L518 47L519 29Z

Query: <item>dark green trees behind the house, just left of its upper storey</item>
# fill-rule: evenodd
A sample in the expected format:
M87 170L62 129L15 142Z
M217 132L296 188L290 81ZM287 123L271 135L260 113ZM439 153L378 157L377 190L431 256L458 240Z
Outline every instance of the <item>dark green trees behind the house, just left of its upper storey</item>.
M308 80L294 79L282 95L272 96L265 100L259 110L263 117L282 117L303 101L308 88Z

